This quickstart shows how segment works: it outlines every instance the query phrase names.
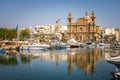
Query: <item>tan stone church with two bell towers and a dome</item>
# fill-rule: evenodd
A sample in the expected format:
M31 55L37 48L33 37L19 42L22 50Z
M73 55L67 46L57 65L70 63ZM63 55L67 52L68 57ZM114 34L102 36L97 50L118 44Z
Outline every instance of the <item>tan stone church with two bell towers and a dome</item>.
M67 18L67 35L77 41L98 41L100 26L96 26L96 16L92 10L91 16L86 12L83 18L78 18L73 22L72 13L69 12Z

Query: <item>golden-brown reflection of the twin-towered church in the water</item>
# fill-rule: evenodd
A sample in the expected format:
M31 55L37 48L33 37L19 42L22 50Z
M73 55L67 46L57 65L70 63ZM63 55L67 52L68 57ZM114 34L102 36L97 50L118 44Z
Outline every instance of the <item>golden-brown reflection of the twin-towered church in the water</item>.
M75 65L78 69L83 69L86 75L88 75L88 72L91 72L93 75L96 68L96 61L101 58L104 58L104 53L98 49L86 49L74 55L68 53L68 72L71 74L72 66Z

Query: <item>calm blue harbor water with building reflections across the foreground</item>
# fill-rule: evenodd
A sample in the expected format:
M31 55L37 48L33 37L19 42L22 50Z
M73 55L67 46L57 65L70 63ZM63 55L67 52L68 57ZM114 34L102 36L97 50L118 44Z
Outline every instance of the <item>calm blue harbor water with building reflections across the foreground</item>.
M7 51L6 51L7 52ZM0 55L0 80L112 80L109 48L21 50Z

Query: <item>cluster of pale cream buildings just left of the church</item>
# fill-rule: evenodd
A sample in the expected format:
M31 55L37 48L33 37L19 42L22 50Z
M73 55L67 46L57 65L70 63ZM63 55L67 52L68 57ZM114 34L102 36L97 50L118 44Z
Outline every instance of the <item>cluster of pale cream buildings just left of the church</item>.
M67 27L59 23L35 27L35 32L37 32L36 34L40 34L47 39L58 38L61 40L66 33L66 30Z

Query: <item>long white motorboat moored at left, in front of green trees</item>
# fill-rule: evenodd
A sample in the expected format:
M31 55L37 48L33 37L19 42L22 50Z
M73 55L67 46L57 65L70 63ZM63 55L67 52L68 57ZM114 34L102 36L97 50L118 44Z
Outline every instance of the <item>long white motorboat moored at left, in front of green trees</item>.
M29 45L22 45L19 47L20 50L31 50L31 49L48 49L50 45L47 44L40 44L40 43L33 43Z

